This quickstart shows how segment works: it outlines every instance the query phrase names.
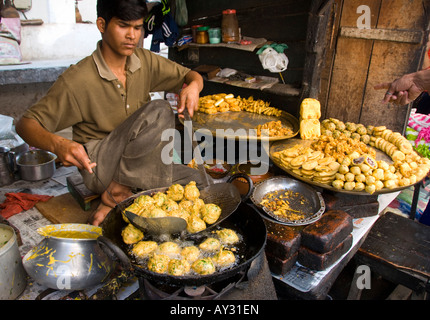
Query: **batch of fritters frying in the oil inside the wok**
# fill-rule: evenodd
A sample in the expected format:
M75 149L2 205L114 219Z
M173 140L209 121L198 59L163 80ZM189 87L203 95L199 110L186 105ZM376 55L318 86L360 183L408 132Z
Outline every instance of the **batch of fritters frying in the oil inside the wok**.
M212 274L234 265L238 261L235 245L241 238L234 230L222 228L199 244L179 240L157 243L142 239L128 243L132 245L131 254L138 263L155 273L185 276Z

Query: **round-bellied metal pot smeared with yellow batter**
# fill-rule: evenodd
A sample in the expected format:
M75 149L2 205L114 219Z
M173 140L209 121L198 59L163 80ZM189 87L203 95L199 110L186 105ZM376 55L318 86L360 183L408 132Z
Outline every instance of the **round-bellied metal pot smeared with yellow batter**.
M57 290L83 290L104 282L115 263L98 245L102 229L86 224L57 224L38 229L45 238L23 258L27 273Z

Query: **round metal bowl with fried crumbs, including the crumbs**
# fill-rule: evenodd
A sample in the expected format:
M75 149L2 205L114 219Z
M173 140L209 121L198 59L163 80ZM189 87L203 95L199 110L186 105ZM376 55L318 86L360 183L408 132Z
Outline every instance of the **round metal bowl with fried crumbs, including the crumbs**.
M267 215L290 226L313 223L325 211L324 199L319 192L306 183L284 176L256 184L251 200Z

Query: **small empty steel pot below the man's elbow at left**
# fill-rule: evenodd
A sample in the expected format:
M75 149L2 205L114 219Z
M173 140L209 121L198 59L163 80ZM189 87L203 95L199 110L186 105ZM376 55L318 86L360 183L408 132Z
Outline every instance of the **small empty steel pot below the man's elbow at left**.
M30 150L16 159L21 179L38 181L48 179L55 173L57 156L45 150Z

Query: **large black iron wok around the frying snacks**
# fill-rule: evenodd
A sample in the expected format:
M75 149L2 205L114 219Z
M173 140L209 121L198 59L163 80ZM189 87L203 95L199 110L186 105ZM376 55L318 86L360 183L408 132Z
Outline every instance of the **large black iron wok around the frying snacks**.
M210 275L191 274L187 276L172 276L149 271L146 265L138 264L131 255L128 255L129 247L123 242L121 230L126 226L121 211L116 207L108 214L101 227L103 237L107 238L116 249L119 249L119 258L123 265L131 265L131 270L136 276L142 276L150 281L172 286L200 286L228 279L246 269L251 262L262 252L266 244L266 226L260 214L245 203L241 203L237 210L220 223L217 228L231 228L242 235L243 241L238 246L239 261L232 267L217 271ZM199 244L206 238L204 233L196 237L195 244ZM118 251L118 250L117 250ZM117 255L118 256L118 255Z

